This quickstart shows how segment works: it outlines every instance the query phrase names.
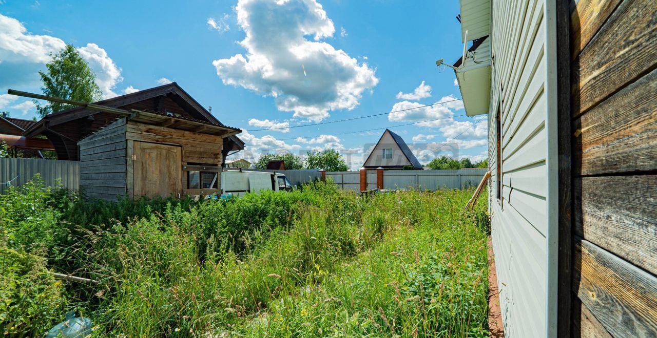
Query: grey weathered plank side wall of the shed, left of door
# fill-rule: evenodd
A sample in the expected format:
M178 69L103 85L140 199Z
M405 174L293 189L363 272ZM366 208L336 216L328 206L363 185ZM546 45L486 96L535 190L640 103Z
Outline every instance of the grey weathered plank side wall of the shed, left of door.
M118 200L125 195L125 119L78 141L80 187L87 197Z

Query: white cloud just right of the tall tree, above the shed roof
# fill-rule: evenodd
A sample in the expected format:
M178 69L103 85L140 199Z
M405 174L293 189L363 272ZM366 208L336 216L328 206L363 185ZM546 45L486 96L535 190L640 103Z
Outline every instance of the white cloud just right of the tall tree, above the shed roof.
M78 52L96 73L96 83L101 87L104 98L113 98L117 94L113 91L118 83L123 81L121 69L114 64L107 52L95 43L87 43L85 47L79 47Z

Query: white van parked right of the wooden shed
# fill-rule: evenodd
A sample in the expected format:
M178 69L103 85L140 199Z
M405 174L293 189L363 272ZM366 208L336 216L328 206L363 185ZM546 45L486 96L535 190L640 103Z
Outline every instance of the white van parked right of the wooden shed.
M221 196L244 196L263 190L291 191L292 184L277 172L224 170L221 172Z

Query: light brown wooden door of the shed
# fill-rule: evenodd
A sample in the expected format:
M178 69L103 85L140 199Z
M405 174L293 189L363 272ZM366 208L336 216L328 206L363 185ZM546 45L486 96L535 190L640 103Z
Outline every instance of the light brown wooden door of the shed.
M134 196L178 197L183 189L181 147L135 141Z

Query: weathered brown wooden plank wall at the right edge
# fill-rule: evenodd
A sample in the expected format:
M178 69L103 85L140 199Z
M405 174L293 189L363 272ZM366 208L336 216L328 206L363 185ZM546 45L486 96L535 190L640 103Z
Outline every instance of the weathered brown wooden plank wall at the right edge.
M657 6L571 4L574 336L657 336Z

